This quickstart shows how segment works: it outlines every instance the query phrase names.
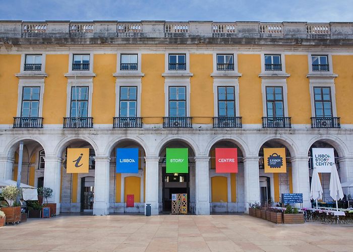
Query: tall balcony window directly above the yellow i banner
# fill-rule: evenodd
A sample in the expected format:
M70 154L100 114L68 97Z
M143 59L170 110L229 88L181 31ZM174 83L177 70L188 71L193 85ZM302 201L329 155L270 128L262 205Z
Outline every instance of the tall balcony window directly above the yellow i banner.
M88 87L72 87L70 117L88 116Z

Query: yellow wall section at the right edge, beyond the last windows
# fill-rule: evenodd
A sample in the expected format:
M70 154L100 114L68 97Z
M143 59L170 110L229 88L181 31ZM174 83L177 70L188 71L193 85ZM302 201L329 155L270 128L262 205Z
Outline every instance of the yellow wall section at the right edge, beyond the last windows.
M341 123L353 123L353 55L332 55L337 116Z

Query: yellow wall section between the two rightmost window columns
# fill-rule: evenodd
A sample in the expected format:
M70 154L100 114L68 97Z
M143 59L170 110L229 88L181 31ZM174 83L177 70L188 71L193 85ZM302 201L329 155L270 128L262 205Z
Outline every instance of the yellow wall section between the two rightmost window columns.
M285 55L287 78L288 116L291 123L309 124L311 100L309 91L308 55Z

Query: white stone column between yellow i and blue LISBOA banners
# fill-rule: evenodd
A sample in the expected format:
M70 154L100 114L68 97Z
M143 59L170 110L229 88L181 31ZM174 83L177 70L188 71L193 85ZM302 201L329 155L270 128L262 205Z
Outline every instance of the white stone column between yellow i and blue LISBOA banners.
M109 214L109 157L95 157L93 215Z

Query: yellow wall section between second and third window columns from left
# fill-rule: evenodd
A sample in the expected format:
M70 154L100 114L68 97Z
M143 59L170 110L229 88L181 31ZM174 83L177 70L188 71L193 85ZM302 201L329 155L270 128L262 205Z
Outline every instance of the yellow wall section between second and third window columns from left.
M111 124L115 115L116 54L94 54L93 72L96 74L92 98L94 123Z

